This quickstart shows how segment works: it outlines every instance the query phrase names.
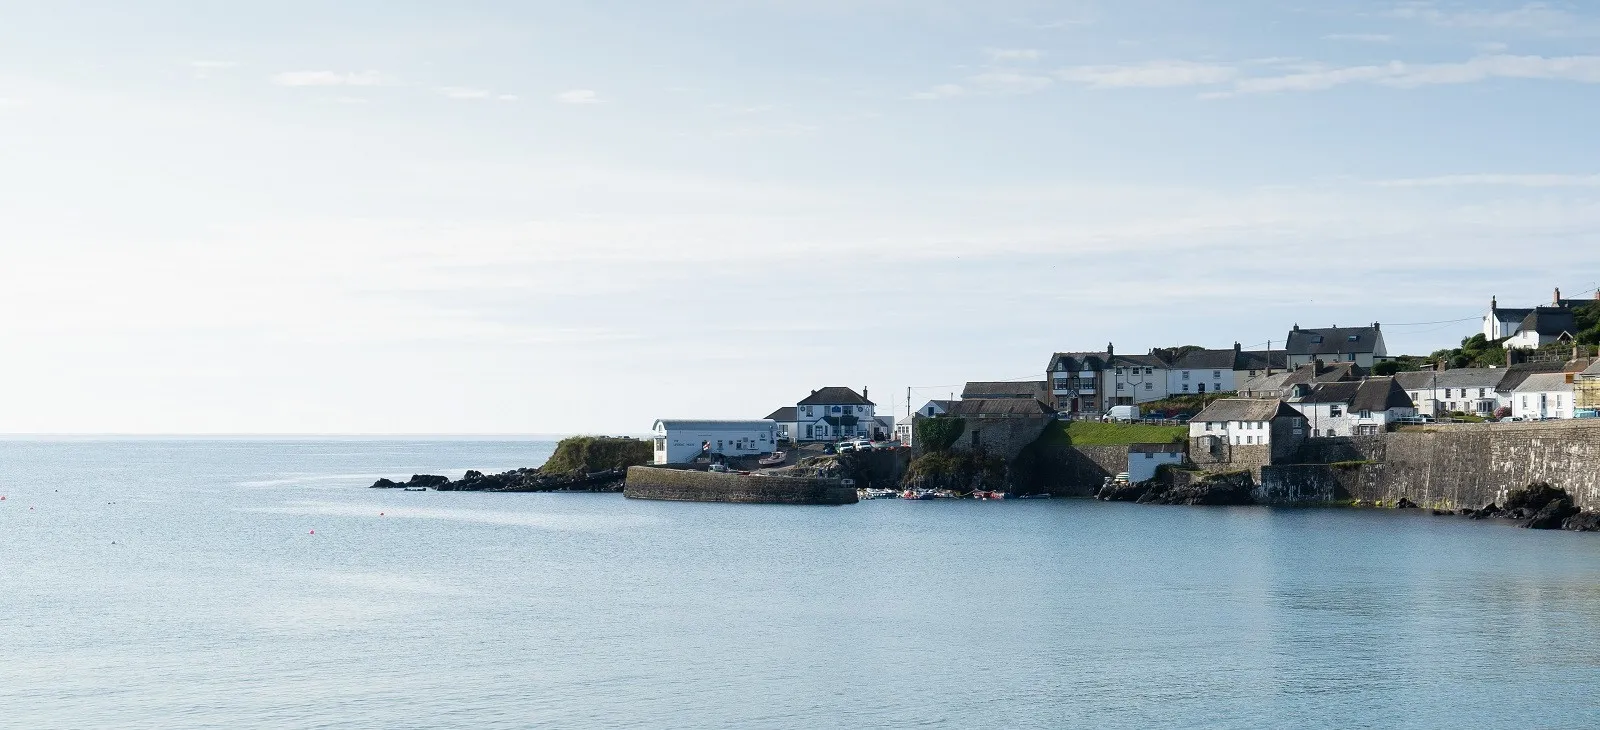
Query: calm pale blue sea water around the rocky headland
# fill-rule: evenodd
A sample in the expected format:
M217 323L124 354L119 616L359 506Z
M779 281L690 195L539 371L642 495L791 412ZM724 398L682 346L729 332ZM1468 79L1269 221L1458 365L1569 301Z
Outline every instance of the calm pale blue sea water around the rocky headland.
M366 488L550 448L0 442L0 727L1600 727L1600 535Z

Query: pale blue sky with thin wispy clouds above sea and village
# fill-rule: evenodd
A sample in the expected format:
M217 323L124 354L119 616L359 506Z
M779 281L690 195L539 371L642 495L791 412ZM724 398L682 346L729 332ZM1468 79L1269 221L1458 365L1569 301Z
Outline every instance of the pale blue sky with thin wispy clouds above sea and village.
M1600 5L0 0L0 432L904 413L1600 285Z

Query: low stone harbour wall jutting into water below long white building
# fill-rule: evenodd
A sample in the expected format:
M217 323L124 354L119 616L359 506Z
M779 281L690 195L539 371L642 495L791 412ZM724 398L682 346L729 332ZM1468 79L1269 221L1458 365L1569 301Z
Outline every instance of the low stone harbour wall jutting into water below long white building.
M635 466L622 495L632 499L752 504L854 504L856 488L837 479L758 477Z

